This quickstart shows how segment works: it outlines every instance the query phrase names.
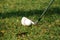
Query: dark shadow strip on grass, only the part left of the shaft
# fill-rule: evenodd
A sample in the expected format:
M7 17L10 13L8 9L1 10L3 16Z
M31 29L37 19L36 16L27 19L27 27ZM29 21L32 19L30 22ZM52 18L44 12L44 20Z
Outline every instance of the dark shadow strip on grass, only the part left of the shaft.
M43 11L42 10L30 10L30 11L13 11L13 12L7 12L7 13L0 13L0 18L10 18L10 17L29 17L33 15L40 15Z

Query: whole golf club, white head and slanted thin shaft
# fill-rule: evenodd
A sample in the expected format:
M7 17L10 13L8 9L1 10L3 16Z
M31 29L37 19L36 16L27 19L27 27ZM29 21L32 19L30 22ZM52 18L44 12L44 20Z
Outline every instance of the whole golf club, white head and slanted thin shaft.
M38 18L38 20L36 22L33 22L26 17L22 17L21 24L24 26L30 26L31 24L33 24L33 25L37 24L42 19L42 17L47 12L48 8L52 5L53 2L54 2L54 0L50 1L49 5L46 7L46 9L43 11L43 13L41 14L41 16Z

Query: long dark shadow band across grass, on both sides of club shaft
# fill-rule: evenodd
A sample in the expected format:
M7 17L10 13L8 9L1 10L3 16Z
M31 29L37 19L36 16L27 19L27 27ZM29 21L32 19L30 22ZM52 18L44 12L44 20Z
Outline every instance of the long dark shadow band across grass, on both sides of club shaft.
M30 10L30 11L13 11L13 12L7 12L7 13L0 13L0 18L4 19L4 18L9 18L9 17L18 17L18 16L33 16L33 15L37 15L40 16L42 14L43 10ZM60 14L60 8L56 7L56 8L51 8L47 11L48 15L57 13Z

